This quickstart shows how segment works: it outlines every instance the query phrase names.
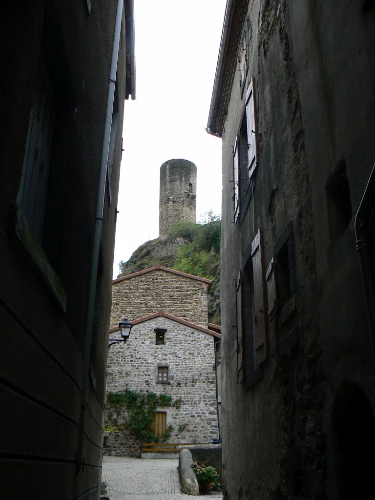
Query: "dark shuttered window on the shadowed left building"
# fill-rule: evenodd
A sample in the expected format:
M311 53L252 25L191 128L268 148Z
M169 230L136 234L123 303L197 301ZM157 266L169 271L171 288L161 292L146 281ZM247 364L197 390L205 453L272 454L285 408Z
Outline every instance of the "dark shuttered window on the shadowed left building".
M43 232L52 133L54 95L48 70L39 61L32 94L29 125L17 203L29 228L40 241Z

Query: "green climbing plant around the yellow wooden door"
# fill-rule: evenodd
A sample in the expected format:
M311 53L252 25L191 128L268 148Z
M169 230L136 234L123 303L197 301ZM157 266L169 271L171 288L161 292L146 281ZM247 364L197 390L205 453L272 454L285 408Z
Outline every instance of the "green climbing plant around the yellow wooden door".
M126 389L125 392L108 392L107 404L117 417L122 414L125 419L124 410L126 410L127 419L122 424L123 429L128 428L144 442L156 442L159 436L152 432L155 409L170 406L173 403L171 396L166 394L156 394L151 391L135 392ZM117 419L113 419L113 422L114 420L117 422ZM169 425L161 439L167 439L172 430L173 427Z

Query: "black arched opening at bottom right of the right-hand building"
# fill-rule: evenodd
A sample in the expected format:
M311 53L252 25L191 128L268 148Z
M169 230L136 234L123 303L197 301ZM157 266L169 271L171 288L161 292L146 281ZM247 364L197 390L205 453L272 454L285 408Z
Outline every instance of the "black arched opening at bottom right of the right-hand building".
M368 498L374 490L375 417L364 392L345 382L332 409L337 498Z

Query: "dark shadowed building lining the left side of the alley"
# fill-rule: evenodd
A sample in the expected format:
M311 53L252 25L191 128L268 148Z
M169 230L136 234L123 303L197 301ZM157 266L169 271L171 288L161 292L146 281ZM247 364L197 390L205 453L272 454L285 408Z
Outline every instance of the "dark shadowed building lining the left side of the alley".
M2 8L0 455L14 500L100 494L122 115L135 98L133 2L116 3Z

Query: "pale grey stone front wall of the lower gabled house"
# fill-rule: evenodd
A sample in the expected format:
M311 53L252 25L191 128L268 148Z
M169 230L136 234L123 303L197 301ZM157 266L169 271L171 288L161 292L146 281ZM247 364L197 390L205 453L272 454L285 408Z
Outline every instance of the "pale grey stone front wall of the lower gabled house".
M166 329L163 345L155 345L156 327ZM168 366L167 383L157 382L157 366ZM157 409L166 411L166 426L173 426L169 442L207 443L217 437L214 337L209 333L163 316L135 324L126 344L114 344L108 351L107 391L126 389L182 398L178 409ZM183 431L180 425L185 425ZM139 444L130 435L111 434L104 452L139 456Z

